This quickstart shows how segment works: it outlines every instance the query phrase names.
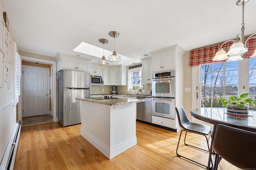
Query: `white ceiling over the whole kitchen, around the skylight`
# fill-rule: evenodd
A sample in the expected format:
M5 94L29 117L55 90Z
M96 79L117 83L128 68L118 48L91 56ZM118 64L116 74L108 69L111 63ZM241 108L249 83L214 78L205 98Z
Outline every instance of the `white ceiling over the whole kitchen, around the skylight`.
M237 0L4 0L19 51L54 57L82 42L114 50L140 62L144 54L179 44L185 51L234 39L241 33ZM256 33L256 0L245 4L245 35ZM103 55L103 51L102 51ZM106 56L107 58L107 56ZM122 62L122 60L121 60Z

